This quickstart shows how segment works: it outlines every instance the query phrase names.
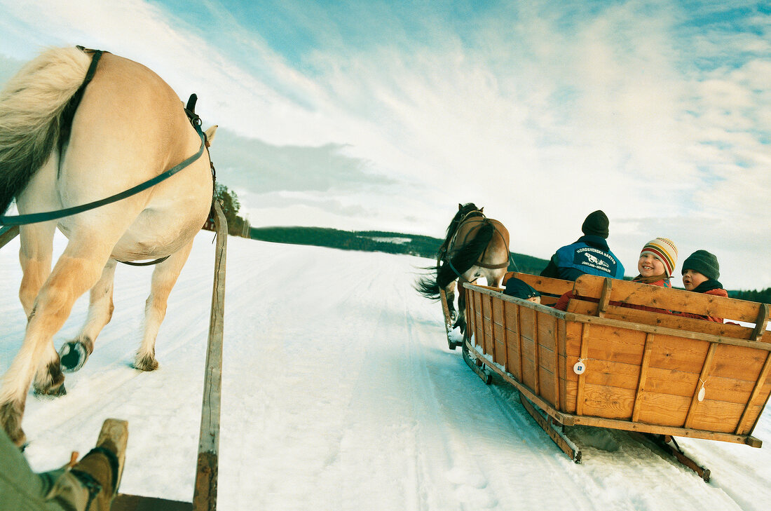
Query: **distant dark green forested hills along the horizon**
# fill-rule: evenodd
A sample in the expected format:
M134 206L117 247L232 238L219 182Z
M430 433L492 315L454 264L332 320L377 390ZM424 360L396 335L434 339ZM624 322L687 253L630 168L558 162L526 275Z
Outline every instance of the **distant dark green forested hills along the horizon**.
M410 254L430 259L436 257L436 250L439 250L443 242L439 238L418 234L391 233L381 230L349 231L323 227L251 227L251 239L342 250ZM524 254L512 253L511 257L514 264L509 263L509 270L528 274L540 274L549 262ZM771 304L771 287L762 291L728 291L728 294L731 298Z

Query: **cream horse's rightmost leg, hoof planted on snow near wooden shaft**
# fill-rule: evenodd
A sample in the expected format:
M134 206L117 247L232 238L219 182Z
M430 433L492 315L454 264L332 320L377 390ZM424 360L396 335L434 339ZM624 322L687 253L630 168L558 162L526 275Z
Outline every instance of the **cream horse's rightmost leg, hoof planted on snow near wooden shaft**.
M155 371L158 361L155 358L155 339L158 329L166 317L167 301L172 287L177 283L182 267L193 248L193 240L162 263L159 263L153 271L153 283L150 288L150 296L145 304L144 337L139 351L136 352L134 367L142 371Z

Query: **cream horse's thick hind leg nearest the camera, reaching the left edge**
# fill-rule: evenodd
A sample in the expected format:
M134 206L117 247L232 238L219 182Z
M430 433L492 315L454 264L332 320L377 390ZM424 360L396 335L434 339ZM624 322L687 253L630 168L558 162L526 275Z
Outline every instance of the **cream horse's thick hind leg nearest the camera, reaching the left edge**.
M70 242L40 289L29 314L22 348L5 372L0 387L0 424L16 445L25 441L21 422L35 369L52 347L53 335L62 328L72 304L99 280L109 251L105 246L85 247Z

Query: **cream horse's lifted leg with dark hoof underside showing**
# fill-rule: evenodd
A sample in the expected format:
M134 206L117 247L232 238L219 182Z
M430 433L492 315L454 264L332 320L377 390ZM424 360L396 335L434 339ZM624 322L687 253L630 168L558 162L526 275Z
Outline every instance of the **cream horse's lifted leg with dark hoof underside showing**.
M93 353L96 336L102 328L113 318L113 281L117 261L107 261L102 277L91 288L89 302L89 315L80 333L72 341L66 341L59 350L62 358L62 369L66 372L77 371L86 363L86 359ZM35 390L38 390L38 380L35 379Z

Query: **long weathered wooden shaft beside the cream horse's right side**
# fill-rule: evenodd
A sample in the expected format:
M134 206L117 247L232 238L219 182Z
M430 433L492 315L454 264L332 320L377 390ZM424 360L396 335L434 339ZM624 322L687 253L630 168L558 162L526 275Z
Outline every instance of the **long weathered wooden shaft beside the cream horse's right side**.
M209 341L201 405L198 462L193 495L194 511L217 509L217 472L220 447L220 405L222 395L222 341L225 314L225 262L227 220L219 201L214 200L217 245L214 254L214 288L211 294Z

